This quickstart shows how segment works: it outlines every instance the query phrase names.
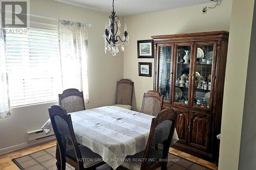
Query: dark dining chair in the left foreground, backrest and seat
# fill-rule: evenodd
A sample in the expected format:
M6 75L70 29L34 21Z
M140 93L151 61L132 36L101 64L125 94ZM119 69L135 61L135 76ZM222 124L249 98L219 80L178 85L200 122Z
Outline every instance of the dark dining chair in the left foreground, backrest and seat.
M60 169L66 169L66 162L75 169L96 169L104 164L101 156L83 145L78 145L71 116L59 105L48 109L52 128L57 139L60 153Z

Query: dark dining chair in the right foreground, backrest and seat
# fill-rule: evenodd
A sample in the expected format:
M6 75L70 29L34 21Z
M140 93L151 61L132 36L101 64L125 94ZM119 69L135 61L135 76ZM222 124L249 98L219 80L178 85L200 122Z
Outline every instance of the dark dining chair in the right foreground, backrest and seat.
M166 170L168 151L175 131L176 118L177 113L173 109L160 111L152 119L145 151L127 156L126 161L120 167L129 170L152 170L161 167L162 170Z

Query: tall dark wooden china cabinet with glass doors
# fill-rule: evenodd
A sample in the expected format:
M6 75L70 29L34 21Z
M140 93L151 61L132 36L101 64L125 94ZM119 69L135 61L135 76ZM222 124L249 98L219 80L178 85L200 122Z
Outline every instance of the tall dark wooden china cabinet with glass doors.
M180 151L217 159L221 130L228 32L152 36L155 47L154 90L163 108L178 113Z

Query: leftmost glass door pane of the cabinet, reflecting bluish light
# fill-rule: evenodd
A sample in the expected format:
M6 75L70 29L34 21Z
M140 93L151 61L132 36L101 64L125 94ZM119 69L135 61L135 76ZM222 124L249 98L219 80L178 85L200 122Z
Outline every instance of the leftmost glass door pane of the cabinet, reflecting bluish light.
M173 46L159 46L158 92L164 96L164 101L170 101L170 74L172 71Z

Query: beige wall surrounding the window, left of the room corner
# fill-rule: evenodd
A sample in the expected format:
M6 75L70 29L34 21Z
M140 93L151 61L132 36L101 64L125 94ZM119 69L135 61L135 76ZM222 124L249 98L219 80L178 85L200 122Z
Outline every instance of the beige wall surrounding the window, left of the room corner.
M116 81L123 78L123 53L116 57L103 52L102 33L108 14L70 6L53 0L30 0L32 14L91 23L89 28L88 75L90 103L87 108L112 105ZM123 22L123 18L120 18ZM53 103L11 109L11 116L0 119L1 149L27 142L26 132L40 129L49 118L47 108Z

